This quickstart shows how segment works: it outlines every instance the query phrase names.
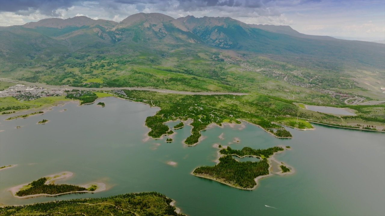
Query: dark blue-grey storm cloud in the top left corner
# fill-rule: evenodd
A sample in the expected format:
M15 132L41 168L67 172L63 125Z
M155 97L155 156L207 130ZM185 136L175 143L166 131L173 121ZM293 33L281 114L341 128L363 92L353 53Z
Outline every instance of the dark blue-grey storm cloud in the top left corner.
M0 12L15 12L27 15L39 10L45 15L57 16L54 11L60 8L67 9L79 0L0 0Z

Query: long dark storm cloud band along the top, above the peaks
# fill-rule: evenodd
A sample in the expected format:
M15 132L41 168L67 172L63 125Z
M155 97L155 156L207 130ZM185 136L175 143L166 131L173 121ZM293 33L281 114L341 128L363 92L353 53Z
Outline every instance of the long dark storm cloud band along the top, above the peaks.
M244 16L247 13L257 12L259 15L280 15L275 6L280 4L306 3L303 1L275 1L275 0L0 0L0 12L14 12L20 15L29 15L39 11L44 15L59 16L57 9L65 9L74 5L96 3L108 12L124 10L124 5L136 5L138 11L151 7L158 11L203 11L218 10L221 12L237 13ZM122 11L121 11L122 12ZM243 14L243 15L242 15Z

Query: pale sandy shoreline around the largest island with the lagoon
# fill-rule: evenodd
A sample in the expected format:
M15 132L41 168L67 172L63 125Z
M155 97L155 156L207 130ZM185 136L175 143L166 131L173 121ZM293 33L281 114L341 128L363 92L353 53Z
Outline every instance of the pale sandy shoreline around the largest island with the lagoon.
M214 147L214 148L219 148L219 145L218 145L218 144L214 144L213 147ZM219 182L219 183L222 183L222 184L226 184L226 185L228 185L228 186L231 186L231 187L233 187L233 188L238 188L238 189L243 189L243 190L253 190L253 189L255 189L255 188L258 187L258 185L259 185L259 184L258 184L258 180L261 179L261 178L265 178L265 177L268 177L268 176L272 176L273 174L286 175L286 174L293 174L293 173L295 172L295 170L294 170L294 168L293 168L292 166L288 166L287 164L282 164L280 161L278 161L278 160L275 159L274 156L275 156L276 154L278 154L278 153L283 153L283 152L285 152L285 150L289 150L289 148L286 148L285 146L280 146L280 147L283 148L283 151L277 151L277 152L275 152L273 155L269 156L269 158L266 158L267 161L268 161L268 164L269 164L269 168L268 168L269 174L263 175L263 176L258 176L258 177L256 177L256 178L254 178L254 181L255 181L256 185L255 185L253 188L241 188L241 187L239 187L239 186L235 186L235 185L233 185L233 184L230 184L230 183L228 183L228 182L225 182L225 181L223 181L223 180L221 180L221 179L218 179L218 178L214 178L214 177L208 176L207 174L203 174L203 175L201 175L201 174L194 174L194 170L195 170L196 168L191 172L191 174L194 175L194 176L201 177L201 178L211 179L211 180L217 181L217 182ZM227 146L222 146L222 148L227 148ZM223 155L223 154L221 154L221 153L219 152L219 151L221 151L222 148L219 148L219 150L217 151L218 158L214 161L214 162L216 162L216 165L220 162L220 161L219 161L219 158L225 156L225 155ZM251 156L251 157L259 158L259 159L263 160L261 157L255 156L255 155L244 155L244 156L242 156L242 157L240 157L240 156L238 156L238 155L236 155L236 154L232 154L232 155L237 156L237 157L239 157L239 158L244 158L244 157ZM273 171L272 171L272 169L273 169L272 161L275 161L275 162L278 164L278 168L281 170L280 172L273 172ZM280 167L280 165L286 166L287 168L290 169L290 171L289 171L289 172L286 172L286 173L283 173L283 172L282 172L282 169L281 169L281 167Z

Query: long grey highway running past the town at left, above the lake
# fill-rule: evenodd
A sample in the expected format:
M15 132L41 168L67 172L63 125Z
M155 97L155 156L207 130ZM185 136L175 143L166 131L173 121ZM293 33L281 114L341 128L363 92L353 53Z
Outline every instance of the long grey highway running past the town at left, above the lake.
M126 90L142 90L142 91L157 91L157 92L164 92L164 93L173 93L173 94L181 94L181 95L248 95L246 93L236 93L236 92L190 92L190 91L173 91L173 90L167 90L167 89L156 89L156 88L131 88L131 87L125 87L125 88L82 88L82 87L72 87L72 86L59 86L59 85L45 85L41 83L30 83L26 81L19 81L19 80L11 80L6 78L0 78L0 81L7 81L12 83L22 83L25 85L32 85L32 86L40 86L47 89L79 89L79 90L119 90L119 89L126 89Z

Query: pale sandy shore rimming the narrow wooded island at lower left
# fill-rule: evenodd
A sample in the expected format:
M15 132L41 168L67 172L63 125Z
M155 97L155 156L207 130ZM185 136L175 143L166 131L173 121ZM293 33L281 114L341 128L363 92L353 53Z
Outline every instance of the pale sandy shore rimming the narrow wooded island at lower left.
M52 174L49 176L44 176L45 178L48 179L44 184L54 184L54 182L56 180L69 178L72 175L73 175L73 173L71 173L71 172L61 172L61 173ZM59 195L68 194L68 193L96 193L96 192L100 192L100 191L105 191L107 189L105 183L93 182L93 183L89 183L89 184L80 185L80 187L89 188L91 185L96 185L97 189L95 191L85 190L85 191L70 191L70 192L59 193L59 194L43 194L42 193L42 194L31 194L31 195L27 195L27 196L17 196L16 193L18 191L20 191L20 189L22 189L24 186L27 186L28 184L30 184L30 183L20 184L18 186L15 186L13 188L8 189L7 191L10 191L12 196L14 196L16 198L26 199L26 198L32 198L32 197L37 197L37 196L59 196Z

